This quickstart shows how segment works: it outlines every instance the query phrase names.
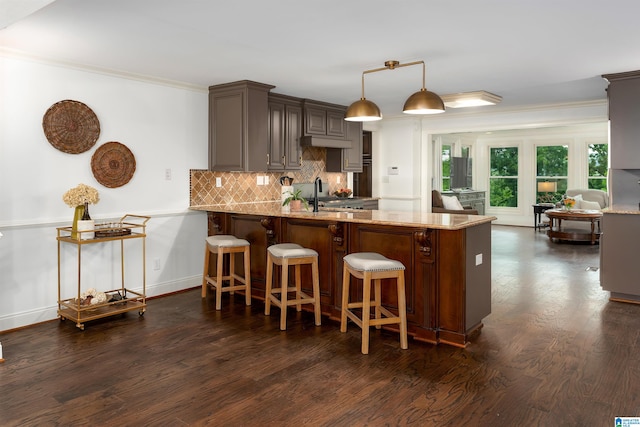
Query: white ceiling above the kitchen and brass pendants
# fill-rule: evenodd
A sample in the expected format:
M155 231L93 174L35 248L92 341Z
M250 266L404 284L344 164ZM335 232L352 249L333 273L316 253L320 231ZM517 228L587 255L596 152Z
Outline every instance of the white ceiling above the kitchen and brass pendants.
M428 90L486 90L502 103L474 110L512 109L606 99L602 74L640 69L638 10L635 0L0 0L0 53L203 89L249 79L342 105L360 98L364 70L424 60ZM385 70L366 75L365 95L396 116L421 83L420 67Z

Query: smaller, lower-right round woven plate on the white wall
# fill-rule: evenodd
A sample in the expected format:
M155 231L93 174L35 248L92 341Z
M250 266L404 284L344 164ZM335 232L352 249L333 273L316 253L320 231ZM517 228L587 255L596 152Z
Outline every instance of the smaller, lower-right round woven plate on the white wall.
M136 171L136 158L126 145L107 142L93 153L91 170L96 180L105 187L122 187Z

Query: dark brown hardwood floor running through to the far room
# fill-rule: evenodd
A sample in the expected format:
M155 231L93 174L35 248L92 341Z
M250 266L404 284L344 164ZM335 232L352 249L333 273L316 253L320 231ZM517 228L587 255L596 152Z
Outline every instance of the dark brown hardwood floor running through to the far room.
M598 246L493 227L493 307L465 349L312 313L215 311L195 289L88 323L0 333L3 426L612 426L640 416L640 306L608 301Z

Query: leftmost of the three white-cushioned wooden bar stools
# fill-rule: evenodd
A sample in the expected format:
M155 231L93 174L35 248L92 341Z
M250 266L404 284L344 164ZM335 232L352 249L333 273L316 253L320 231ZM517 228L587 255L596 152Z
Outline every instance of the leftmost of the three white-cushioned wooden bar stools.
M233 294L234 291L244 290L245 301L251 305L251 271L249 242L238 239L228 234L218 234L209 236L206 239L204 248L204 273L202 275L202 298L207 296L207 285L216 289L216 310L222 308L222 292ZM216 275L209 275L209 256L214 253L218 256L216 260ZM244 253L244 277L237 275L235 269L235 254ZM224 275L224 255L229 254L229 274ZM228 280L229 285L224 286L224 281ZM236 284L240 282L240 285Z

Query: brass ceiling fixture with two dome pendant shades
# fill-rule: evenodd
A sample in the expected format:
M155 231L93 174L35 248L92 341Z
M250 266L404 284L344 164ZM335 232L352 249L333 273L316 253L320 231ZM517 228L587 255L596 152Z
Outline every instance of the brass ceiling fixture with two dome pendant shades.
M433 92L429 92L425 88L425 69L424 61L407 62L401 64L398 61L386 61L384 67L374 68L373 70L366 70L362 72L362 97L359 101L354 102L347 108L345 120L350 122L371 122L375 120L381 120L382 114L380 114L380 108L367 100L364 97L364 75L368 73L375 73L383 70L395 70L400 67L409 67L411 65L422 64L422 88L420 91L414 93L404 103L402 111L406 114L437 114L444 112L444 102L442 99Z

